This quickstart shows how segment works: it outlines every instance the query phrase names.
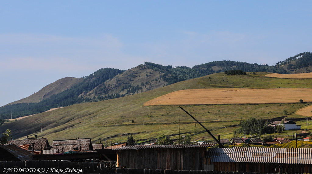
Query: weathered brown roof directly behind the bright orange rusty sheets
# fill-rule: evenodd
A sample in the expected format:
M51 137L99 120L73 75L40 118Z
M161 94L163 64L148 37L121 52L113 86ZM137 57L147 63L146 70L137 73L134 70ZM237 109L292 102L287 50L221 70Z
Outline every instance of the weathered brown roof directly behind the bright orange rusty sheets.
M12 140L12 141L7 141L9 144L12 143L14 145L26 145L26 144L34 144L34 149L41 149L41 145L42 145L42 149L49 149L50 145L48 142L47 138L33 138L33 139L27 139L27 140Z

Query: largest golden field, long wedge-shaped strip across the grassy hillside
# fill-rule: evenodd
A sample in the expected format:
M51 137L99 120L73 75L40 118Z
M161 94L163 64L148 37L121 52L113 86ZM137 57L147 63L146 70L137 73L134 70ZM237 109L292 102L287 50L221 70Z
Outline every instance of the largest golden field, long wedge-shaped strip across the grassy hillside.
M187 89L154 98L144 105L215 105L299 103L312 101L311 88L222 88Z

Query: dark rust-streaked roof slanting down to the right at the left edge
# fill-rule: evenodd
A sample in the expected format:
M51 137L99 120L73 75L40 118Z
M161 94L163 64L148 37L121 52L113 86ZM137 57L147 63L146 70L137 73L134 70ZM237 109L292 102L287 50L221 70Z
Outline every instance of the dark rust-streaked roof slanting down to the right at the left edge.
M14 144L0 145L0 148L5 149L7 152L14 155L21 161L32 160L32 153L18 147L17 145Z

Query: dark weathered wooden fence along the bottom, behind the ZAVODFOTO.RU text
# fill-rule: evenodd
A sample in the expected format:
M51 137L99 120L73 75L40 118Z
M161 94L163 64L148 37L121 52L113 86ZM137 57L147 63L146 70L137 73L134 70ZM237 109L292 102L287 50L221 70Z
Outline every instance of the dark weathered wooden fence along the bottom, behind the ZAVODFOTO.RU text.
M71 162L71 161L1 161L0 173L98 173L98 174L256 174L255 172L224 172L205 170L164 170L164 169L130 169L112 168L115 162ZM265 174L265 173L261 173Z

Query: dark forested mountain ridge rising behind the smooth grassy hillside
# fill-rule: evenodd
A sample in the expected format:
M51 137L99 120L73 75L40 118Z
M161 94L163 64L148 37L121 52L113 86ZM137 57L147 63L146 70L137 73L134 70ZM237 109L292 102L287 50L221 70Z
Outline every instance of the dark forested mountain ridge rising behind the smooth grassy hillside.
M186 66L173 67L172 65L163 66L151 62L144 62L144 65L141 64L127 71L104 68L97 70L89 76L82 77L79 83L59 93L49 95L49 98L43 98L39 102L33 101L5 105L0 108L0 119L11 118L11 112L12 118L17 118L41 113L51 108L132 95L168 84L228 70L291 74L311 72L311 67L312 54L304 52L280 61L273 66L224 60L196 65L193 68Z

